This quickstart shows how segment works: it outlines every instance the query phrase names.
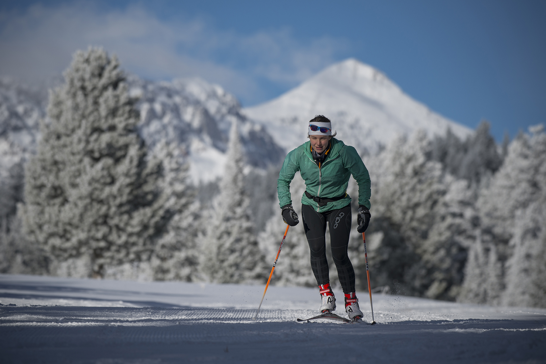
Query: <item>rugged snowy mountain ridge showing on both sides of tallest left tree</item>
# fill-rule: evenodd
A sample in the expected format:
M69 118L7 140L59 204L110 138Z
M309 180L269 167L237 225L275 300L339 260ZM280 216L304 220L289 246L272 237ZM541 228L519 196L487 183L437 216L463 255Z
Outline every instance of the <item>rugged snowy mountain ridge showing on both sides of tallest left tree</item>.
M229 129L237 121L246 162L257 168L277 164L284 150L265 128L240 113L239 101L221 86L197 77L146 81L127 74L129 95L140 112L139 133L153 148L167 141L181 148L194 183L222 176ZM46 119L48 88L25 86L0 77L0 183L15 163L34 153L40 138L39 121Z

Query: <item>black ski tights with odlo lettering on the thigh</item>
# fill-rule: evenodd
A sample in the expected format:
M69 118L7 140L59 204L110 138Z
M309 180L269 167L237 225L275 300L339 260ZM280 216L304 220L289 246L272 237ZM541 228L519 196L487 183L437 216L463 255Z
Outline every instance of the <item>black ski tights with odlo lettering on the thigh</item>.
M314 211L309 205L301 205L305 235L311 249L311 268L317 284L330 283L326 260L326 223L330 228L330 245L343 293L354 292L354 269L347 255L351 232L351 205L327 212Z

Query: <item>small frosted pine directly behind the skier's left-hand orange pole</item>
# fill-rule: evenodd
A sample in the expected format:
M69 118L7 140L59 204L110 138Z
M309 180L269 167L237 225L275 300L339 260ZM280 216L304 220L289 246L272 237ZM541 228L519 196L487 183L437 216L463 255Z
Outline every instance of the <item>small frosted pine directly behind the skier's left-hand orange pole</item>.
M292 195L294 210L300 217L300 224L288 229L274 276L271 278L271 284L306 287L315 287L317 285L317 280L311 270L309 246L301 222L301 204L299 200L304 191L305 183L300 174L296 173L292 183L290 183L290 194ZM265 230L260 232L258 236L260 248L265 256L265 264L269 266L269 270L275 261L287 226L282 219L278 201L274 202L272 208L274 214L266 223ZM332 262L331 259L330 262Z

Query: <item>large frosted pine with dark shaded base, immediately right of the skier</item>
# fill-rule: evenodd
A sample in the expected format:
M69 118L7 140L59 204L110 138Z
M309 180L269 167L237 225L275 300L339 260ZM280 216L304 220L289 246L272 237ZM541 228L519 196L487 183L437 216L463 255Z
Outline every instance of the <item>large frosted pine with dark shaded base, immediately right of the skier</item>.
M395 291L423 294L434 279L423 265L419 250L434 225L434 207L446 193L440 163L427 159L430 141L422 131L410 140L394 140L367 165L372 181L372 221L366 235L381 232L377 246L370 246L372 287L392 285ZM366 284L362 236L354 234L358 247L360 284ZM373 259L372 259L373 258ZM351 259L353 259L351 257ZM367 284L366 284L367 285Z

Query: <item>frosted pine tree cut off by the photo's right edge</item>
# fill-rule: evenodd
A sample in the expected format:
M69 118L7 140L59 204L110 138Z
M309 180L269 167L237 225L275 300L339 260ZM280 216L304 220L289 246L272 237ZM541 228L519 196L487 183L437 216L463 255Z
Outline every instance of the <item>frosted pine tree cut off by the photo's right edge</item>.
M513 205L519 207L514 212L508 243L503 303L546 307L546 134L542 126L530 130L531 136L522 135L509 147L506 164L498 176L503 180L497 180L492 188L512 187L509 182L516 177L509 177L516 172L521 173L517 178L526 187L523 190L518 186L513 194L503 194L516 200Z

